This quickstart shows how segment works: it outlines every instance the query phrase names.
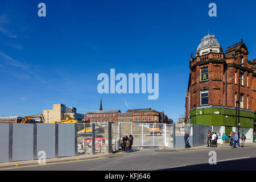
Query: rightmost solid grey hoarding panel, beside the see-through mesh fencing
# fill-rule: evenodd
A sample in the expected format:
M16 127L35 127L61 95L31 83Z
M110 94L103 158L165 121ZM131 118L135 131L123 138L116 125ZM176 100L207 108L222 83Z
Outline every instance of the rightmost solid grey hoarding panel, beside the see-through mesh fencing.
M58 157L75 156L75 124L58 125Z

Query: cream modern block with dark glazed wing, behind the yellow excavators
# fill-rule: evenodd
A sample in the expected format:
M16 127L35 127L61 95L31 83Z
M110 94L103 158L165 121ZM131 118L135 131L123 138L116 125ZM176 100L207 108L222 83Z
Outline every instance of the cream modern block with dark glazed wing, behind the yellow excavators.
M53 104L53 109L43 110L43 115L45 123L50 123L52 121L61 121L64 120L64 114L68 115L81 122L84 118L84 114L76 113L76 107L66 107L64 104Z

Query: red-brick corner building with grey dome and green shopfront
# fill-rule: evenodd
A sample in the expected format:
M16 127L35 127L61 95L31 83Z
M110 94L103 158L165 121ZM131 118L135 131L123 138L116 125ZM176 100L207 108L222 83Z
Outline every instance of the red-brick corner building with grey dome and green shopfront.
M212 125L221 134L237 131L240 100L240 133L251 138L256 110L256 60L249 61L248 53L243 40L224 53L214 35L204 36L196 57L191 55L189 60L185 121Z

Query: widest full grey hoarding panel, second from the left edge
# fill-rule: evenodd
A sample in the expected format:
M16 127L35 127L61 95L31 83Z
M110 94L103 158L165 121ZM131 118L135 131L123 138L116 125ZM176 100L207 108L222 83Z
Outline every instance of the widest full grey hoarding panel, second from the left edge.
M13 161L34 159L33 137L33 124L13 124Z

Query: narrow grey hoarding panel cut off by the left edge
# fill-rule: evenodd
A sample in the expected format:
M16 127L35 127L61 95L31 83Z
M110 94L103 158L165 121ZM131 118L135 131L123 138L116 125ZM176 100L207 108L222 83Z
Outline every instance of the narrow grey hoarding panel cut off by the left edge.
M9 162L9 124L0 123L0 162Z

